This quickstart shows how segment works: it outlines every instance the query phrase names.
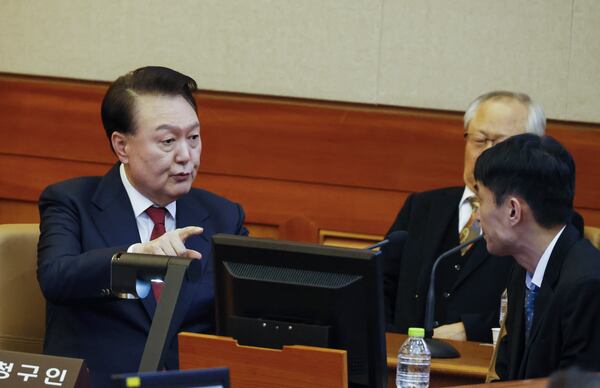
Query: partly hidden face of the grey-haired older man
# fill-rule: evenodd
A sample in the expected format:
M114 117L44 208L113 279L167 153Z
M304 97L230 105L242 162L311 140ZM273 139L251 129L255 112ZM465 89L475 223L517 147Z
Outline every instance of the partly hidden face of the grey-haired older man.
M525 132L527 107L511 99L489 100L479 106L465 132L465 184L474 190L473 169L479 155L510 136Z

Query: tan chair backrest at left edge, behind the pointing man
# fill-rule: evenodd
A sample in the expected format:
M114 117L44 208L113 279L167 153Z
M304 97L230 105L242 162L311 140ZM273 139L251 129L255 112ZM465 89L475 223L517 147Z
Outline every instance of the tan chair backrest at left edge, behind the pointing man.
M37 282L38 224L0 225L0 349L41 353L45 300Z

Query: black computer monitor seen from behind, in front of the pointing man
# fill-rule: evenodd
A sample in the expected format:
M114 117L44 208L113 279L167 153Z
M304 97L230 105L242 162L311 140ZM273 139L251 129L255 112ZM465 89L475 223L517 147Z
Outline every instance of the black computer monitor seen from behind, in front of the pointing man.
M218 234L213 258L218 335L343 349L351 387L387 386L379 255Z

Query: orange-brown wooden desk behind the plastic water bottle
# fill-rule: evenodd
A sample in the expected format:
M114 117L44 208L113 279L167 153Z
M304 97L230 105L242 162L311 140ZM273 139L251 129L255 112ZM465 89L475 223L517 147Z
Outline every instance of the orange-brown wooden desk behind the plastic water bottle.
M386 333L388 386L395 387L398 349L406 340L405 334ZM430 387L448 387L485 382L493 347L479 342L448 341L461 354L460 358L431 360Z

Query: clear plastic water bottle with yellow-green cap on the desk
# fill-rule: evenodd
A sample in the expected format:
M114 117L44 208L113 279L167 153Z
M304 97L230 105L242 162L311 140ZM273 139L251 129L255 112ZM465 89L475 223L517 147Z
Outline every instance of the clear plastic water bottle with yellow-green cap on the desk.
M427 344L423 339L424 336L425 330L420 327L411 327L408 329L408 339L398 351L396 387L429 387L431 353L429 353Z

